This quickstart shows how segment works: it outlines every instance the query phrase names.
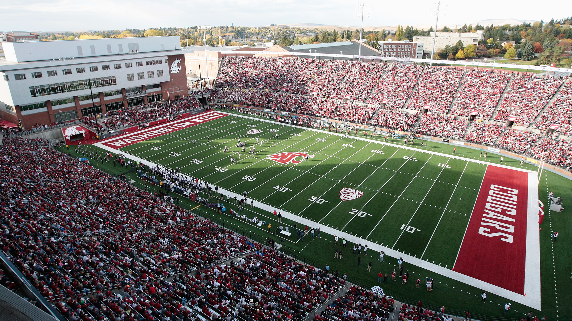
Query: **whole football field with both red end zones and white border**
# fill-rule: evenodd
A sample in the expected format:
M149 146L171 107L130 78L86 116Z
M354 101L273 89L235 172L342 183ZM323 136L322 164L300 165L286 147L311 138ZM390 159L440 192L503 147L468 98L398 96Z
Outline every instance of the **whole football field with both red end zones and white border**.
M225 195L240 199L246 192L248 204L254 200L269 212L282 211L299 228L323 226L374 251L463 274L480 288L490 284L491 291L510 292L515 300L526 292L532 300L536 291L539 298L539 283L525 282L530 273L539 277L530 263L539 255L534 173L436 153L431 142L420 147L422 140L404 146L402 140L386 143L363 133L346 137L222 112L202 115L97 145L178 167ZM237 147L239 139L245 151ZM295 234L289 238L297 242ZM511 275L491 279L498 274L492 264L499 263Z

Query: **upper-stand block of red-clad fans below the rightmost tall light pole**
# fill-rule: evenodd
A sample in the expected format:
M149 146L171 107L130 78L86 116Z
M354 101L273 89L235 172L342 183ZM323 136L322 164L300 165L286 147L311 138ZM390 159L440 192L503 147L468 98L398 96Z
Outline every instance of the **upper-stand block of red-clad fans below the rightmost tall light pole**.
M431 111L448 113L463 73L463 69L456 68L427 68L417 81L405 108L421 110L429 105Z

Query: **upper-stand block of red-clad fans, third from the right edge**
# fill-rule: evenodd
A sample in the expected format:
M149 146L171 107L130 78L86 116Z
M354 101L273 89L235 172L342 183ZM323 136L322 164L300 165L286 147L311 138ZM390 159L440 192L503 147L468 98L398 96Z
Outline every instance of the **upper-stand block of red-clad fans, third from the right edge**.
M477 111L479 118L491 118L509 79L508 73L467 71L455 95L451 114L469 117L472 111Z

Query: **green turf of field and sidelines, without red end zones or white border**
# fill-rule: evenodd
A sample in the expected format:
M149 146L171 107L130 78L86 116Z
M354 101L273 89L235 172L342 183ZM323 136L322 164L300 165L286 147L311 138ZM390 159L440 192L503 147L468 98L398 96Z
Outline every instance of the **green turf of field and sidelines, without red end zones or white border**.
M248 130L257 133L247 134ZM277 139L276 133L279 134ZM207 137L209 142L206 141ZM363 133L358 133L358 137L363 138ZM255 143L256 138L262 140L263 145L256 145L255 155L242 153L240 149L239 160L236 155L239 151L239 147L236 147L239 138L247 144L247 149ZM195 146L193 139L196 141ZM375 142L382 140L382 137L376 137L375 140L356 139L353 135L343 137L328 131L307 130L252 117L227 115L118 147L118 150L131 159L141 158L160 166L178 167L186 175L236 194L246 190L249 202L252 198L257 203L294 214L297 218L304 219L303 222L309 220L320 223L368 240L370 248L375 244L383 245L435 266L451 269L467 230L487 165L483 164L483 158L479 158L479 151L466 147L458 147L453 156L453 146L443 143L415 141L413 148L404 148L400 139L390 138L390 144ZM420 142L427 142L427 149L421 148ZM101 146L87 148L100 149ZM229 153L223 152L225 146L228 146ZM302 162L297 162L300 157L294 158L294 163L279 163L267 158L285 152L306 152L313 155L313 158ZM231 156L238 162L231 164ZM500 164L499 160L500 156L492 153L486 159L492 164ZM503 165L521 168L519 163L519 160L505 158ZM109 163L101 166L110 174L119 174L118 167L110 166ZM522 168L537 170L537 167L530 164L525 164ZM140 180L134 174L128 175L139 184ZM571 185L569 179L545 171L538 195L545 200L543 195L551 190L567 204L567 200L572 199ZM157 186L155 188L158 189ZM352 188L363 194L343 201L340 199L342 188ZM354 194L353 197L355 196ZM197 206L197 203L188 202L189 206ZM237 210L233 202L223 203ZM265 207L247 206L240 214L267 220L272 223L272 230L281 224L290 226L290 231L293 231L291 220L283 218L281 223L275 222L276 217L264 209ZM206 217L215 215L213 210L204 206L195 208L194 211ZM225 214L228 214L228 210ZM288 237L271 235L265 226L259 227L244 220L229 218L225 214L219 215L217 219L238 232L257 235L261 241L267 236L276 240L284 239L281 244L285 250L315 262L321 268L329 264L330 271L338 270L340 276L347 272L350 281L371 287L378 284L378 272L391 274L397 268L396 258L386 255L384 262L379 262L379 252L372 249L367 252L367 256L362 257L358 267L357 254L352 254L351 242L348 242L347 248L343 248L344 259L333 259L333 236L324 230L321 238L311 238L308 235L302 241L294 233ZM558 226L567 223L563 215L547 211L545 222L541 225L542 312L534 311L539 318L542 315L547 315L549 319L569 319L572 316L568 311L569 304L558 306L558 301L570 302L570 298L566 298L566 294L558 295L558 282L555 282L569 280L569 258L564 255L561 245L569 241L569 236L560 231L554 244L550 238L551 227L557 230ZM299 222L299 228L303 228L297 218L293 219ZM311 224L308 225L312 227ZM342 248L341 239L337 247ZM553 251L554 261L550 260ZM372 271L368 272L367 264L370 261ZM439 307L444 305L446 311L464 311L468 308L473 314L502 316L502 306L511 302L513 311L509 316L516 319L530 310L492 293L488 294L487 302L482 303L482 290L479 287L415 266L407 262L407 259L404 271L410 273L407 284L402 285L399 277L399 281L392 282L390 276L388 282L380 286L390 294L411 298L408 303L422 300ZM399 275L399 270L397 272ZM502 266L498 273L505 273ZM432 292L427 292L424 288L423 281L427 276L435 279ZM418 278L422 280L419 289L415 288L415 280Z

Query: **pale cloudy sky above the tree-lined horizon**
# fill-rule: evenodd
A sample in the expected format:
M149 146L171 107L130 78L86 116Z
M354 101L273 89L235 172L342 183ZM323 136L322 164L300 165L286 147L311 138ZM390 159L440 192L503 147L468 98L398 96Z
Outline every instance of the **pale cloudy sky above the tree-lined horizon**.
M365 0L364 26L433 25L432 1L385 2ZM526 5L530 2L530 5ZM391 7L390 4L399 4ZM403 6L407 3L407 6ZM445 0L439 26L462 25L484 19L535 20L572 14L572 1L558 10L524 0L470 2ZM1 31L125 30L194 25L267 26L320 23L359 26L357 2L341 0L18 0L0 3ZM408 10L410 9L410 10Z

